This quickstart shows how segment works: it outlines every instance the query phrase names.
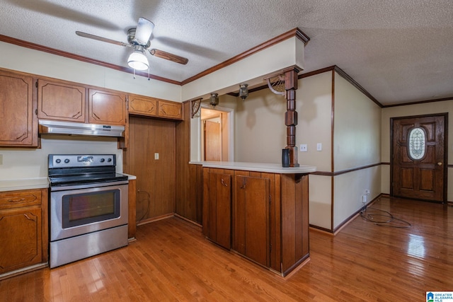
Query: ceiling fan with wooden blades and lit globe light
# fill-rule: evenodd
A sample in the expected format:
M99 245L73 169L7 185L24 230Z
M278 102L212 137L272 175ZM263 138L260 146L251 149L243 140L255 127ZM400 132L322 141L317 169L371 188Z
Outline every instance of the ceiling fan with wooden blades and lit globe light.
M133 69L137 70L149 70L149 63L147 57L145 56L145 52L149 52L154 57L168 59L179 64L187 64L189 62L189 60L185 57L180 57L176 54L164 52L163 50L156 50L154 48L150 49L149 46L151 45L151 42L149 38L151 37L153 29L154 23L147 20L146 18L139 18L137 28L131 28L130 30L127 30L127 42L129 42L129 44L111 40L106 37L99 37L98 35L83 33L80 31L76 31L76 35L79 35L81 37L88 37L93 40L112 43L115 45L133 47L134 52L132 52L127 59L127 64Z

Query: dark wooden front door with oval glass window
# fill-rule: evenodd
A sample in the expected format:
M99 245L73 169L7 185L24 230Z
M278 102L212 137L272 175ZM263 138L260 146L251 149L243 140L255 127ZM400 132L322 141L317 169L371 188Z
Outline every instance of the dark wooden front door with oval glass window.
M447 114L391 119L391 194L444 202Z

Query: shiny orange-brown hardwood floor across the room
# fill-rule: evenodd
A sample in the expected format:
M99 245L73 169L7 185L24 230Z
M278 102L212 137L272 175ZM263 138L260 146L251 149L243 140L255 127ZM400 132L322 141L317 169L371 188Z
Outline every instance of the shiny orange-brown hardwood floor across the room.
M0 301L425 301L425 291L453 291L453 207L386 197L372 207L411 227L359 216L336 236L311 230L310 261L287 278L170 218L138 226L126 248L4 279Z

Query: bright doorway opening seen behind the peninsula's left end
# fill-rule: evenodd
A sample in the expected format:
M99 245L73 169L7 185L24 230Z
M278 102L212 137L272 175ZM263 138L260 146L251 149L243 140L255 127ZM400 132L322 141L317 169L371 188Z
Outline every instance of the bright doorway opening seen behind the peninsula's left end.
M202 161L234 161L233 110L200 108Z

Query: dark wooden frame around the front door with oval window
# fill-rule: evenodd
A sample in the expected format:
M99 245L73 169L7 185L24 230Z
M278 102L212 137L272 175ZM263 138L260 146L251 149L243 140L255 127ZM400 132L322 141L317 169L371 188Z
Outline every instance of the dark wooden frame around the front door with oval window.
M390 196L394 196L394 120L418 119L422 117L444 117L444 185L442 192L442 204L447 202L448 192L448 112L435 113L430 115L408 115L404 117L390 118Z

